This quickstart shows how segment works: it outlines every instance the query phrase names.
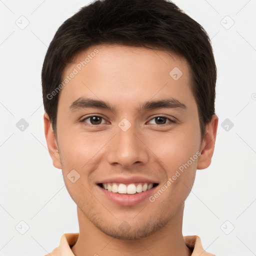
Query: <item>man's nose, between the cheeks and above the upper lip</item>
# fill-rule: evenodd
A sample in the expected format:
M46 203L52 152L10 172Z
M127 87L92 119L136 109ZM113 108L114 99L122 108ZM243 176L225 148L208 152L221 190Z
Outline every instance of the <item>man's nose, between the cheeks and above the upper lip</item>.
M149 159L148 150L135 125L126 131L117 127L116 132L108 148L109 164L120 164L123 168L132 168L135 163L146 164Z

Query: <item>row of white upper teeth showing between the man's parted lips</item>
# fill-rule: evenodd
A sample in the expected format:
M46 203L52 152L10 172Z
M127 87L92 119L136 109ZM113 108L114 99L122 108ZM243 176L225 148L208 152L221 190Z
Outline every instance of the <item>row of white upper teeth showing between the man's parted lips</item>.
M116 183L108 182L108 183L98 183L97 185L113 193L135 194L135 193L142 193L144 191L147 191L157 186L158 183L138 182L138 183L123 184L123 183L117 183L117 182Z

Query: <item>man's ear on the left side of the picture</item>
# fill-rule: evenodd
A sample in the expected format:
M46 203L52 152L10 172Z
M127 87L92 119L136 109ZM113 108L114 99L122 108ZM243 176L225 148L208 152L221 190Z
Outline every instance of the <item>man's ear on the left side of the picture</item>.
M43 115L43 122L44 122L44 135L46 138L47 147L48 147L50 157L52 159L52 163L54 167L61 169L57 140L52 130L50 118L47 113L44 113Z

